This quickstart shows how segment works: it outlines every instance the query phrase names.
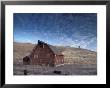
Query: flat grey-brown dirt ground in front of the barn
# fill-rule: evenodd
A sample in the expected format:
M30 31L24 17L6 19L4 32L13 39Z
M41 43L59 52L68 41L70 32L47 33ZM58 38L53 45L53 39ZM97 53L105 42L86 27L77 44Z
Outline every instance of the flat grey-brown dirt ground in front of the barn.
M27 75L97 75L97 66L95 64L66 64L57 67L14 64L13 70L14 75L24 75L24 70L27 71Z

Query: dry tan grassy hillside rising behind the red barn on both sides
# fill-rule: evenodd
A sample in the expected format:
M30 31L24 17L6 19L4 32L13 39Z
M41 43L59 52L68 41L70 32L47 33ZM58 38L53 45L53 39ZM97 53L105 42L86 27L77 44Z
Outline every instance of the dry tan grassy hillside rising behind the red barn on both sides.
M28 55L35 44L31 43L17 43L13 44L14 51L14 63L21 63L22 58ZM69 46L55 46L64 55L65 64L96 64L97 63L97 52L74 48Z

